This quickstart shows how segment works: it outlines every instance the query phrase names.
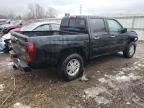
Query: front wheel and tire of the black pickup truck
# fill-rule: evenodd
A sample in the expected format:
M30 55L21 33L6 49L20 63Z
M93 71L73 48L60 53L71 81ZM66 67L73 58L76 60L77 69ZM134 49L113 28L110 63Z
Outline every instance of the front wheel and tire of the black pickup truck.
M129 43L127 48L123 51L123 55L125 58L132 58L135 54L135 51L136 51L136 43L131 42Z

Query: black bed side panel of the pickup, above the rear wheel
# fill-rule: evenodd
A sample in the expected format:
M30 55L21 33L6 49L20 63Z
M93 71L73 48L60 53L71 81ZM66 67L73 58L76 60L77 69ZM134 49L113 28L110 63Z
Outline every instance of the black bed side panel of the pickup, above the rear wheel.
M31 66L33 68L47 67L57 64L62 51L71 48L82 48L89 54L89 35L53 35L31 37L36 45L36 53Z

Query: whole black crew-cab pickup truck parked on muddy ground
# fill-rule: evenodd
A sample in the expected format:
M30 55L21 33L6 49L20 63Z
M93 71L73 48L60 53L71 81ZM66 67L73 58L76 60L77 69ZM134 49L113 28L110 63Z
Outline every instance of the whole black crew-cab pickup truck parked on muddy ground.
M136 51L136 32L113 18L70 16L61 21L60 31L12 31L11 58L14 68L24 71L57 67L66 80L83 72L84 62L119 51L131 58Z

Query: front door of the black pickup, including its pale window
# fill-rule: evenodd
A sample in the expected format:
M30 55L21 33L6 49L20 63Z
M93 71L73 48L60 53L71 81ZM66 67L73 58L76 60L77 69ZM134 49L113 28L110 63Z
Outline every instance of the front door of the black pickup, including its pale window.
M112 51L121 50L127 43L126 33L122 33L122 25L115 19L107 19L107 24L111 37Z

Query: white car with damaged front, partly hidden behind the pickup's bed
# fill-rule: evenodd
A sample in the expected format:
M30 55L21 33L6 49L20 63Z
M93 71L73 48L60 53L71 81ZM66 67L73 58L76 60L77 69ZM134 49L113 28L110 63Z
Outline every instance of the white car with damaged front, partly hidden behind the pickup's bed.
M56 31L58 31L59 29L60 29L60 24L58 24L58 23L34 22L34 23L27 24L20 29L14 29L14 30L20 30L20 31L51 31L51 30L56 30ZM11 50L11 47L9 46L10 45L10 39L11 39L10 33L7 33L0 38L0 51L8 52L9 50Z

